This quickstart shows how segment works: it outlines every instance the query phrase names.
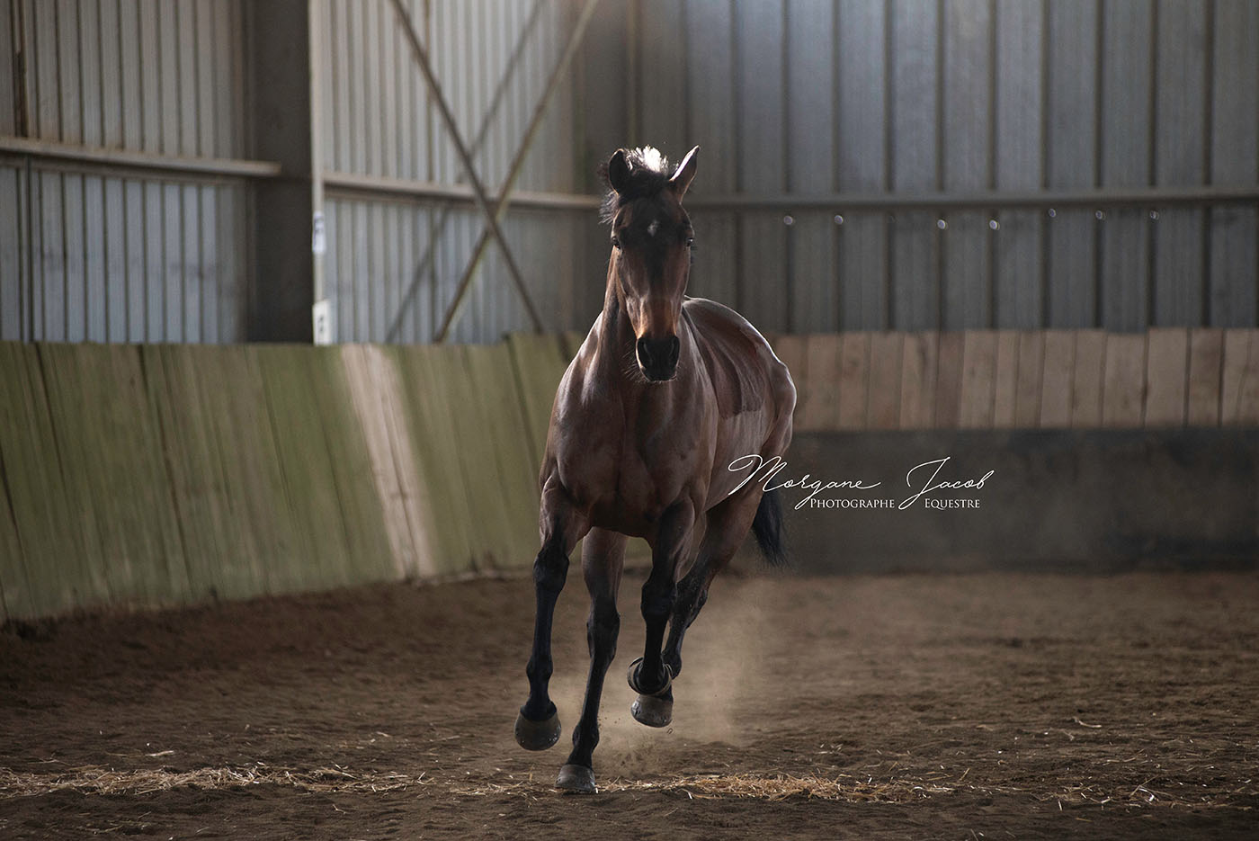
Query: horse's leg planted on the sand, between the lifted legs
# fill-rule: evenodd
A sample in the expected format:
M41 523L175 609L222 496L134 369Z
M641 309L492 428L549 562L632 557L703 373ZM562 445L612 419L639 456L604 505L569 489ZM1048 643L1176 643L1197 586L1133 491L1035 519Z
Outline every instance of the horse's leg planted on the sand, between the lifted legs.
M593 794L594 748L599 744L599 699L603 679L617 656L617 590L624 565L626 536L603 529L592 529L582 546L582 573L590 592L590 614L585 621L585 642L590 650L590 672L585 679L585 700L582 719L573 729L573 752L560 768L556 788Z

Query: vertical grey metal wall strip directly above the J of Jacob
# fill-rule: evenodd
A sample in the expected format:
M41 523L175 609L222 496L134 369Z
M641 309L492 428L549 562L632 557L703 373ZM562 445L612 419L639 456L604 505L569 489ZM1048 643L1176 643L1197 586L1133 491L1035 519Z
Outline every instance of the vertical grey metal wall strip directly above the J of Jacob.
M891 3L891 189L939 189L937 78L939 5ZM934 214L895 214L891 235L891 326L940 326L939 229ZM956 419L956 418L954 418Z

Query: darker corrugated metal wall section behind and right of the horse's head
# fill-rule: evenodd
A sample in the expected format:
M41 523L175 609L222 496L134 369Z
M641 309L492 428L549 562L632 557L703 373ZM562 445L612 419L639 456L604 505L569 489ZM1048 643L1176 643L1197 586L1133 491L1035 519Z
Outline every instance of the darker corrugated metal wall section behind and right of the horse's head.
M617 142L700 144L696 206L1259 183L1251 0L623 9L637 84ZM1103 201L696 209L692 291L793 332L1256 324L1254 198Z

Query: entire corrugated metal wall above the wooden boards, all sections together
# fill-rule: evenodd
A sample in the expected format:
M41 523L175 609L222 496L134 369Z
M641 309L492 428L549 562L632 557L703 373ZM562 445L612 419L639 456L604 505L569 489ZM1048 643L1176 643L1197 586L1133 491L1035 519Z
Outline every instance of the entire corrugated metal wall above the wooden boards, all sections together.
M424 189L465 176L390 4L311 3L335 339L428 341L481 219ZM494 194L580 4L407 5ZM0 0L0 136L240 162L248 9ZM543 326L582 329L606 230L564 196L617 146L699 144L691 291L768 331L1256 325L1256 115L1251 0L603 0L517 184L558 200L504 232ZM1181 198L1078 200L1133 189ZM1031 198L938 201L974 194ZM249 203L0 152L0 337L243 339ZM491 244L452 339L529 326Z

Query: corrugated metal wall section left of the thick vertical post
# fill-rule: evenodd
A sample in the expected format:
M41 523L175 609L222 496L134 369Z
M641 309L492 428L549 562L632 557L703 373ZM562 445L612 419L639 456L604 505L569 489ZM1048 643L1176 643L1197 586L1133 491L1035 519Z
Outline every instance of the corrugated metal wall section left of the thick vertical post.
M235 0L0 0L0 135L244 157ZM0 155L0 339L243 337L247 189Z

